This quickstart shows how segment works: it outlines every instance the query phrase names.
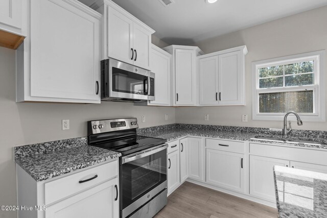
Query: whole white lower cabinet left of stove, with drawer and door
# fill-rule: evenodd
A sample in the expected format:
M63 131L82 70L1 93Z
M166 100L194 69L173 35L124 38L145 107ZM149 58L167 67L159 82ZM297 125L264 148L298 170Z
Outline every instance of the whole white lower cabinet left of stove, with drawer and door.
M119 217L118 160L36 182L17 165L19 218ZM35 209L35 206L40 206Z

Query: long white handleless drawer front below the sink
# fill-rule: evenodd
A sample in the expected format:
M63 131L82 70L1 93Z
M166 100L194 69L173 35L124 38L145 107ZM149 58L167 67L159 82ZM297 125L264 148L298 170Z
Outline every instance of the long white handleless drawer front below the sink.
M250 154L327 165L327 151L250 143Z

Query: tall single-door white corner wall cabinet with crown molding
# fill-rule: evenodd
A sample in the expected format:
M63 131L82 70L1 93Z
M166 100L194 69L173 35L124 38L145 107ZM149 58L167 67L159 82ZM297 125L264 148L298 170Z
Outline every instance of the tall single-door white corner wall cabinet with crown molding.
M203 52L196 46L170 45L163 50L172 54L173 106L196 106L198 83L196 57Z

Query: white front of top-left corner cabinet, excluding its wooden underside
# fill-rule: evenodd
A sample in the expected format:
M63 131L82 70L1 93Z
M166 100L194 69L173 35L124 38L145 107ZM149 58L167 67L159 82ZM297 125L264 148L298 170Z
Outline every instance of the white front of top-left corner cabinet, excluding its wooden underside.
M0 30L26 36L23 16L26 16L27 0L0 1Z

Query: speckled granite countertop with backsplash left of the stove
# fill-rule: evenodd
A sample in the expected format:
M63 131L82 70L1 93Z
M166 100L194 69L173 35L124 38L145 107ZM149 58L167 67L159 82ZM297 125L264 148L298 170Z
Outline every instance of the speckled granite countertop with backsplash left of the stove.
M15 162L37 182L121 156L88 146L86 137L14 147Z

